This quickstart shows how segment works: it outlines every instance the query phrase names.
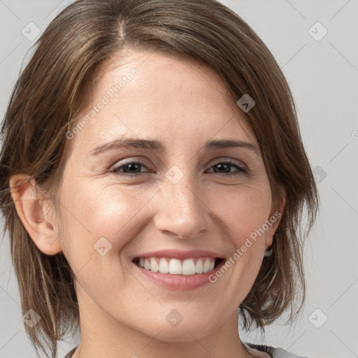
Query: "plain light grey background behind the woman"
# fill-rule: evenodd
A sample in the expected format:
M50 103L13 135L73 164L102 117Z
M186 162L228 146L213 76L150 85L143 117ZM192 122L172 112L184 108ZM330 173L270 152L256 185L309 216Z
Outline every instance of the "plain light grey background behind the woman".
M71 2L0 0L1 118L34 43L29 37ZM250 24L285 73L321 198L306 245L308 299L300 319L293 327L280 321L267 327L265 337L253 331L242 338L310 358L358 357L358 1L222 2ZM0 303L0 358L35 357L8 236L0 250ZM61 343L59 357L77 343L78 337Z

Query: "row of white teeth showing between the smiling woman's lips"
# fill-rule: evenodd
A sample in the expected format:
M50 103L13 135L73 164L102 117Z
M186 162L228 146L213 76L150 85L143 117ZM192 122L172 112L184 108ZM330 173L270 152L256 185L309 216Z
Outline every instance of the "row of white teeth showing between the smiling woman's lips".
M171 259L169 257L135 257L136 266L147 271L168 273L169 275L196 275L208 273L220 265L220 257L195 257L192 259Z

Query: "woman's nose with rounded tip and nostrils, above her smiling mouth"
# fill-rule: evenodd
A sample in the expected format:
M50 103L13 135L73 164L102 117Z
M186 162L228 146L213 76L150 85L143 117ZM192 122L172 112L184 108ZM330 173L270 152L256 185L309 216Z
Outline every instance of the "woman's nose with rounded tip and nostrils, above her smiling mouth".
M157 201L155 227L172 238L197 238L208 230L210 210L194 178L165 179Z

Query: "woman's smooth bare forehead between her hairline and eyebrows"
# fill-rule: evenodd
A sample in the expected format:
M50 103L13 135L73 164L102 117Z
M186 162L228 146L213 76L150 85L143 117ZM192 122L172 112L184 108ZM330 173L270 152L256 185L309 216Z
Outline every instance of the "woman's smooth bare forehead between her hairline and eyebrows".
M201 62L164 52L129 50L102 66L78 120L86 117L76 142L87 147L123 135L178 145L215 136L255 143L220 76Z

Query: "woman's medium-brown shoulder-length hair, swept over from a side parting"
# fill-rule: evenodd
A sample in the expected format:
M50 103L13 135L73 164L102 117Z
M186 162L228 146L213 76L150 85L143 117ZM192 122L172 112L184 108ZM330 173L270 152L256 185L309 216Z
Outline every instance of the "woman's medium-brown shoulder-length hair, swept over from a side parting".
M56 357L57 341L78 328L78 301L62 252L43 254L24 229L9 180L17 173L29 175L59 208L56 189L69 149L66 131L75 124L96 71L124 46L192 57L220 75L234 101L243 94L255 100L243 115L262 150L273 203L278 206L283 192L285 208L273 255L264 259L240 310L245 329L255 323L264 331L287 308L287 322L292 322L306 296L303 241L315 221L318 195L294 100L273 55L241 17L215 0L79 0L57 15L36 42L1 128L4 234L8 230L22 313L34 309L41 316L33 328L24 325L31 343L45 352L44 339Z

